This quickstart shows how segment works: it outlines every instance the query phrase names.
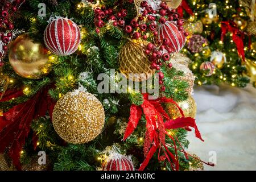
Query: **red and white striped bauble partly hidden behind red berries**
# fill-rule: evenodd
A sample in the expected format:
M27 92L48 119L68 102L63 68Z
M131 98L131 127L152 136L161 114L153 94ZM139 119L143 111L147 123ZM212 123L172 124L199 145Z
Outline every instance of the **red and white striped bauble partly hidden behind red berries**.
M184 31L179 31L174 22L167 21L166 23L159 25L158 39L162 42L164 38L170 39L168 47L172 49L172 52L180 52L185 46L186 38Z

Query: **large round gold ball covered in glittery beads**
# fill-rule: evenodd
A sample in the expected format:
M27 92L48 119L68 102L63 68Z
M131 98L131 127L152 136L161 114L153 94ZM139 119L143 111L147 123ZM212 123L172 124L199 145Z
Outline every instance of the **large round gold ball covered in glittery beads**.
M93 94L75 90L57 101L52 122L56 133L66 142L87 143L101 133L105 112Z

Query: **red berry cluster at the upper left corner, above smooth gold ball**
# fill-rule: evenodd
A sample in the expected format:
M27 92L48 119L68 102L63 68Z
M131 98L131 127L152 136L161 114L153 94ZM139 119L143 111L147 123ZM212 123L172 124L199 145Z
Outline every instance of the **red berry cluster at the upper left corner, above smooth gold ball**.
M10 17L18 11L18 6L23 3L24 0L15 0L13 2L4 1L1 2L0 10L0 37L2 44L2 52L0 51L0 67L3 65L2 57L5 55L11 37L13 36L14 24L11 22Z

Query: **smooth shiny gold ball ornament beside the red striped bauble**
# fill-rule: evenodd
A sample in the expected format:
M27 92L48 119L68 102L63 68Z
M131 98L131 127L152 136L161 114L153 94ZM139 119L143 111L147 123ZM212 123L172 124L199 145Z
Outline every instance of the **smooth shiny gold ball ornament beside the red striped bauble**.
M43 44L35 43L30 34L22 34L11 43L9 61L18 75L39 79L51 71L51 54Z

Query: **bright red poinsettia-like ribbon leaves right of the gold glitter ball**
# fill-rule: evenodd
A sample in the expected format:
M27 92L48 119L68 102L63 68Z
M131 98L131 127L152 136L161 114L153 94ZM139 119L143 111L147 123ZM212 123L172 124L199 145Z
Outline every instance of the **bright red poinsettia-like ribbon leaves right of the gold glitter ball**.
M182 117L174 120L170 119L166 111L164 111L161 103L175 104L177 108L180 110ZM170 98L162 97L158 100L148 100L148 94L144 94L144 101L141 106L131 105L130 118L127 124L123 140L126 140L127 137L129 137L136 129L138 122L141 119L142 111L146 118L146 134L143 146L145 159L141 164L141 167L139 167L139 171L143 171L144 168L147 167L148 162L150 162L150 159L158 149L159 161L167 159L168 162L170 162L171 164L172 170L179 170L179 160L177 156L177 147L175 139L171 135L168 135L166 129L177 129L184 127L185 129L188 130L189 127L193 127L195 128L196 137L203 140L201 138L199 130L197 129L195 119L185 118L184 113L180 109L179 105L177 105L177 103ZM164 120L166 120L167 122L164 123ZM174 142L175 154L172 154L170 150L168 150L166 144L166 135L170 137ZM164 156L160 156L161 150L163 151ZM183 148L182 151L184 152L187 158L187 153L183 150Z

